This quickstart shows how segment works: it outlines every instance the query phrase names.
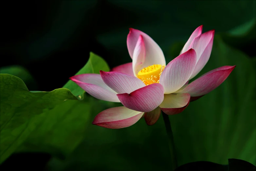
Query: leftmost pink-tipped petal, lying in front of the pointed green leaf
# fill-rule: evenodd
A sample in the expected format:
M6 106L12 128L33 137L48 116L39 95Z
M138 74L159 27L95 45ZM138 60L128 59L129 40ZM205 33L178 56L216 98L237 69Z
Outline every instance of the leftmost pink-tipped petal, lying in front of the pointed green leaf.
M103 82L100 74L81 74L70 77L70 79L95 98L120 102L117 93Z

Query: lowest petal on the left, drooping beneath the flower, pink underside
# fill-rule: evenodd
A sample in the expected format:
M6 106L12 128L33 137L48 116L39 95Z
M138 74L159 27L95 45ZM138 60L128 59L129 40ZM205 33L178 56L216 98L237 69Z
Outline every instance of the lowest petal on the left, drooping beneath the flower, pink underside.
M130 127L143 115L143 112L133 111L124 106L109 108L95 116L92 124L104 128L119 129Z

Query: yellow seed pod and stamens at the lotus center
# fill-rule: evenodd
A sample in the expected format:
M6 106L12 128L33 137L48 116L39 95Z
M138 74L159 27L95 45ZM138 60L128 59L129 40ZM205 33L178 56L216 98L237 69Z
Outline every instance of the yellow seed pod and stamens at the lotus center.
M137 74L137 78L141 79L146 85L159 83L164 67L165 66L159 64L150 65L140 70Z

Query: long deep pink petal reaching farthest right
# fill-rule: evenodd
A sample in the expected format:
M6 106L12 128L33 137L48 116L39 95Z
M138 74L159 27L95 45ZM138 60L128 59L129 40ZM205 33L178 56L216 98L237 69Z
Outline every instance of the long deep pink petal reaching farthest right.
M236 66L222 66L197 78L175 93L189 93L192 97L202 96L217 88Z

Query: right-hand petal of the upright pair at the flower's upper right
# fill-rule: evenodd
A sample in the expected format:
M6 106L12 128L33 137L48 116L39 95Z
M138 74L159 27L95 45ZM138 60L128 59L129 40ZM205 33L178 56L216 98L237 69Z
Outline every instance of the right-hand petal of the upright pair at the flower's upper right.
M202 34L200 38L200 43L196 51L197 59L199 60L196 63L194 72L190 79L195 77L205 66L208 62L211 54L212 44L213 44L213 37L214 37L214 30L210 30L204 34Z

